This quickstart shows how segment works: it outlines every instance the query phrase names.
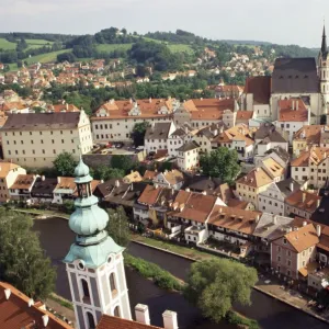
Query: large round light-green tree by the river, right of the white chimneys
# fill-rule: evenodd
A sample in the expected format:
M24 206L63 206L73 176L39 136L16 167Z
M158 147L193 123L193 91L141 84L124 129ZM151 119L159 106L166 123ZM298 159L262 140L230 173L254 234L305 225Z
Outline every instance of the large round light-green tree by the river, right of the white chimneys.
M250 305L257 280L253 268L227 259L206 260L191 265L184 295L205 317L219 322L234 303Z

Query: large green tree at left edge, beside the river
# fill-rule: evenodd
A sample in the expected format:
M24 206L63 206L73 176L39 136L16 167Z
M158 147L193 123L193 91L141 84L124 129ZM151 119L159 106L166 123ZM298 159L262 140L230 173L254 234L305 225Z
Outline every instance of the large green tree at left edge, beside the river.
M56 271L32 227L25 214L0 211L0 280L32 298L44 299L55 288Z

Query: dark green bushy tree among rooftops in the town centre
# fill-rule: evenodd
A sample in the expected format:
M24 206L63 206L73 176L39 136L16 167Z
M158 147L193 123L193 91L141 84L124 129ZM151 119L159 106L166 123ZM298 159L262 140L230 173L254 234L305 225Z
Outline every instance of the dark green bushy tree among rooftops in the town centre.
M237 151L226 147L218 147L201 156L200 167L204 174L219 178L226 183L234 182L240 171Z

